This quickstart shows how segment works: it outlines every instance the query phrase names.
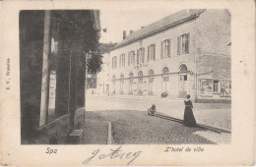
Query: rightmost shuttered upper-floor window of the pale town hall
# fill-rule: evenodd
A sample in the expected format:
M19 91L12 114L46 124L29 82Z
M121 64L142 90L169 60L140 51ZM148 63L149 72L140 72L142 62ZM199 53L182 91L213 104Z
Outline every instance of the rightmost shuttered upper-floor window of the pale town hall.
M177 54L189 53L189 33L184 33L178 36Z

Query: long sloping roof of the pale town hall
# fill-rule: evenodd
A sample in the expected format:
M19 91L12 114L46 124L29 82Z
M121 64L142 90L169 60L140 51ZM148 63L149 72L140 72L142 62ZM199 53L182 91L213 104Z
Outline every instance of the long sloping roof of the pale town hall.
M129 43L136 41L136 40L145 38L149 35L157 33L166 28L171 28L173 26L176 26L176 25L179 25L186 21L189 21L191 19L194 19L194 18L198 17L204 11L205 11L204 9L189 10L189 12L188 12L188 10L181 10L181 11L179 11L175 14L172 14L170 16L167 16L167 17L161 19L160 21L157 21L145 28L141 28L137 31L134 31L133 33L126 36L124 40L119 42L112 50L115 50L119 47L125 46Z

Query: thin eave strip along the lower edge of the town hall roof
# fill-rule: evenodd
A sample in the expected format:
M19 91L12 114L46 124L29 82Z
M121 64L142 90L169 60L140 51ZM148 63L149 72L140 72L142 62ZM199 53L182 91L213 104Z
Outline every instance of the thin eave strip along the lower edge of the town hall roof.
M202 12L202 13L203 13L203 12ZM162 31L162 30L165 30L165 29L167 29L167 28L172 28L172 27L174 27L174 26L183 24L183 23L185 23L185 22L187 22L187 21L193 20L193 19L197 18L199 15L200 15L200 14L191 15L191 16L189 16L189 17L187 17L187 18L184 18L184 19L182 19L182 20L179 20L179 21L177 21L177 22L174 22L174 23L172 23L172 24L170 24L170 25L168 25L168 26L166 26L166 27L163 27L163 28L154 30L154 31L152 31L152 32L146 33L146 34L144 34L144 35L142 35L142 36L139 36L139 37L137 37L137 38L128 40L127 42L124 42L124 43L122 43L122 44L120 44L120 45L115 46L115 47L112 48L110 51L113 51L113 50L115 50L115 49L117 49L117 48L120 48L120 47L123 47L123 46L125 46L125 45L128 45L128 44L130 44L130 43L132 43L132 42L134 42L134 41L140 40L140 39L142 39L142 38L146 38L146 37L148 37L148 36L151 36L151 35L153 35L153 34L155 34L155 33L158 33L158 32L160 32L160 31Z

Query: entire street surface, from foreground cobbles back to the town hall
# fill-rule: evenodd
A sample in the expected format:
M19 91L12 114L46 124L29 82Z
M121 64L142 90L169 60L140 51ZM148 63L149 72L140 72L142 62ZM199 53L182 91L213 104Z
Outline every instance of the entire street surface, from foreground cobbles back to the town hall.
M201 128L185 127L183 124L164 120L147 114L152 104L158 112L183 119L183 101L144 100L88 95L86 118L108 121L112 124L114 144L162 144L162 143L229 143L230 134L217 134ZM230 104L194 104L198 122L212 120L214 124L230 128L228 112ZM206 113L204 113L206 112ZM206 117L206 119L204 119ZM221 117L221 118L219 118ZM209 119L211 118L211 119ZM218 119L216 121L214 119ZM224 120L224 123L222 123ZM218 124L216 124L218 122Z

